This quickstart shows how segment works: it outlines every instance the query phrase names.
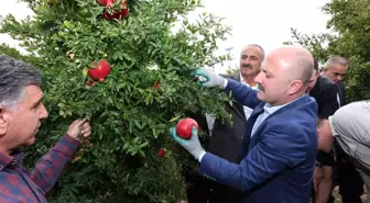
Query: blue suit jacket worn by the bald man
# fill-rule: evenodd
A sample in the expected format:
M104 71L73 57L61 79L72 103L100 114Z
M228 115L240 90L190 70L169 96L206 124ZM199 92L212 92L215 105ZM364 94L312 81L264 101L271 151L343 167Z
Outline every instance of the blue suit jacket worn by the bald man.
M236 100L254 109L247 122L246 137L264 102L257 91L228 80L226 91ZM210 153L200 162L200 174L246 191L246 203L308 203L317 150L317 103L303 95L264 120L244 145L240 165Z

